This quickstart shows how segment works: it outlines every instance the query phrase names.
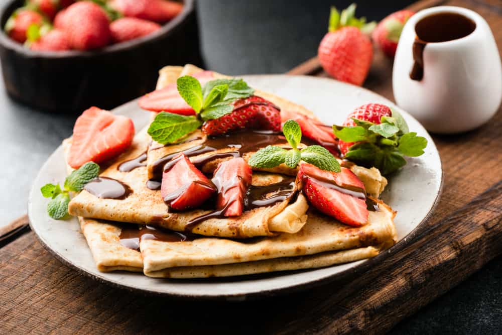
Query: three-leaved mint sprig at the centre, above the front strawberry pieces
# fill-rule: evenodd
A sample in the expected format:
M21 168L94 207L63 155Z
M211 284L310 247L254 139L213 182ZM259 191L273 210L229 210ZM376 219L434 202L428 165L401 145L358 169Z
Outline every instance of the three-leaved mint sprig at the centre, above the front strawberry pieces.
M294 120L284 123L283 133L293 149L287 150L276 146L267 146L258 150L248 160L248 164L255 168L270 169L281 164L289 168L296 168L300 161L317 166L322 170L340 172L340 164L324 147L313 145L298 150L302 140L300 125Z

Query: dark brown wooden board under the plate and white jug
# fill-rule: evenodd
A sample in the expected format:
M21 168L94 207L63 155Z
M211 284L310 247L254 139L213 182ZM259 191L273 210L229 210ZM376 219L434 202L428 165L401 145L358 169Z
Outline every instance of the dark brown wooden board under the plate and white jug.
M473 9L500 50L499 4L422 1L412 9ZM393 99L391 69L377 53L364 86ZM291 73L325 75L316 59ZM301 293L224 303L144 298L78 275L24 234L0 249L0 333L383 333L502 253L500 129L502 110L478 130L433 136L444 186L427 223L383 261Z

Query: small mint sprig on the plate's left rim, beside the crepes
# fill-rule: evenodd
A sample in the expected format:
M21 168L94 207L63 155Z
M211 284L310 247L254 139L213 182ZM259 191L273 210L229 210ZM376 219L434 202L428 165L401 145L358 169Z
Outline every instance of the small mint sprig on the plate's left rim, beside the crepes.
M61 189L59 184L45 184L42 186L40 189L42 195L46 198L51 198L47 204L47 213L49 216L56 220L68 216L69 192L80 192L85 184L96 178L98 174L99 165L94 162L87 162L66 177L63 189Z

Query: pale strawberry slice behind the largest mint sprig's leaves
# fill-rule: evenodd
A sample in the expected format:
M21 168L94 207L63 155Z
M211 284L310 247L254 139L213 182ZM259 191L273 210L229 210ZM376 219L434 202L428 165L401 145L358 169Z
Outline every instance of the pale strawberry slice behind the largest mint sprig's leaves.
M212 71L202 71L191 76L197 78L201 86L214 79ZM142 96L138 103L141 108L146 110L195 115L195 110L190 107L178 92L176 83L169 84L162 89L157 89Z

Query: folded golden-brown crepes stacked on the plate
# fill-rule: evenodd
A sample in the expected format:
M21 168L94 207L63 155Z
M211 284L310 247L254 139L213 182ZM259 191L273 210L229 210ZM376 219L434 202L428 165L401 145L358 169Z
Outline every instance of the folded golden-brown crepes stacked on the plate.
M179 76L199 71L202 70L192 65L165 67L160 71L157 88L175 83ZM223 77L216 73L214 76ZM255 94L281 109L313 117L301 105L266 92ZM354 228L309 208L306 198L297 190L295 197L244 211L239 217L207 219L193 229L196 239L183 242L140 239L139 250L128 248L119 238L124 227L140 230L143 225L151 225L183 232L190 219L207 212L196 209L170 213L160 190L146 186L153 174L153 162L204 143L206 139L199 131L188 137L193 141L184 138L182 143L163 146L152 141L146 129L139 131L131 147L100 174L129 185L133 192L120 200L98 198L83 190L71 200L69 212L78 216L99 271L126 270L143 272L150 277L202 278L299 270L374 257L396 242L395 212L382 201L378 201L378 210L369 212L366 225ZM64 141L66 150L70 144L71 139ZM284 146L287 147L287 143ZM117 169L120 163L135 159L145 151L146 166L130 172ZM250 154L244 154L243 158L247 159ZM218 159L209 160L202 170L212 171L218 162ZM363 181L366 192L375 198L387 185L387 180L375 168L352 166L351 170ZM270 185L288 174L296 175L296 171L285 166L254 171L252 184Z

